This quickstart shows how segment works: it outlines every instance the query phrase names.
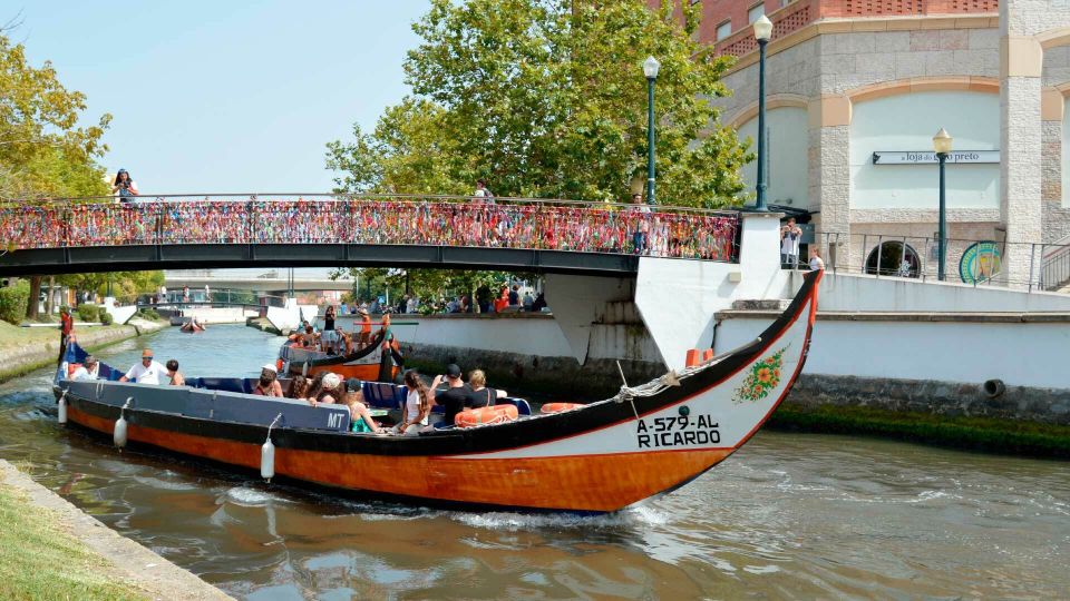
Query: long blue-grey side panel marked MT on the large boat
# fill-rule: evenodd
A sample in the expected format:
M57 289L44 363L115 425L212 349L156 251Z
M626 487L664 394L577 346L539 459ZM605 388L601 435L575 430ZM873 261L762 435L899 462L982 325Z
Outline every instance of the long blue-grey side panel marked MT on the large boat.
M207 380L207 378L205 378ZM240 378L214 378L237 380ZM156 386L132 382L62 382L62 386L80 398L121 407L127 398L132 410L174 413L241 424L268 426L281 413L278 427L348 432L349 408L337 405L310 406L292 398L250 396L220 390L189 386Z

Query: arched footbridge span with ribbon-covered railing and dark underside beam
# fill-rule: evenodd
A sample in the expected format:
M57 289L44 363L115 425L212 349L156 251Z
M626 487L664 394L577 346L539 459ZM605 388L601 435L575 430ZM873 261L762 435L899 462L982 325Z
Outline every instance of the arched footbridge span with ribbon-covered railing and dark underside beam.
M349 266L630 276L640 256L736 260L738 229L732 211L521 198L82 198L0 207L0 275Z

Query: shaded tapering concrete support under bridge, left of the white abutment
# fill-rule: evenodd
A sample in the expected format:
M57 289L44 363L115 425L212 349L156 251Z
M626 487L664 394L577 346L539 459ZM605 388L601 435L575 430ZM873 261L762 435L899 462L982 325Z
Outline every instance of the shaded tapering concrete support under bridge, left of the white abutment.
M606 304L631 300L634 290L631 278L546 274L546 304L580 365L587 361L592 324Z

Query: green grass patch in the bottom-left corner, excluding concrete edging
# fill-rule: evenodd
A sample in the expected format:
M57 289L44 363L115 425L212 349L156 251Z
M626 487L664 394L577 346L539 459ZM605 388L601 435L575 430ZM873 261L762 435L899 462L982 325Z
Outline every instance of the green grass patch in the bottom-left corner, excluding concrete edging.
M56 522L0 482L0 599L146 599Z

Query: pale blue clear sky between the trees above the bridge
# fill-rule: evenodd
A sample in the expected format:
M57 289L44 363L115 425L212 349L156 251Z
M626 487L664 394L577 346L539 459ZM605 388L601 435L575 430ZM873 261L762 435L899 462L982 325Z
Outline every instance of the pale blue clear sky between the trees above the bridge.
M0 0L35 67L110 112L109 171L143 195L330 191L325 144L408 92L427 0Z

